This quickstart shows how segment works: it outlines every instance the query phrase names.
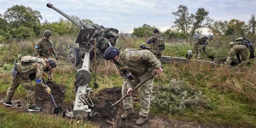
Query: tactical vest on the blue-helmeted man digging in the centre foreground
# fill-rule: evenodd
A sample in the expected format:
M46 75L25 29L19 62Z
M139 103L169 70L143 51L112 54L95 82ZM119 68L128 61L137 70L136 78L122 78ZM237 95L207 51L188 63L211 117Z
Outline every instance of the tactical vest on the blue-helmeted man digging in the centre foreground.
M123 51L122 56L120 56L120 59L123 62L120 70L122 70L125 74L127 72L131 72L134 76L142 75L146 71L145 64L143 64L141 61L138 61L136 64L132 65L132 63L129 63L129 61L125 59L126 53L130 51L136 51L136 49L127 48Z

